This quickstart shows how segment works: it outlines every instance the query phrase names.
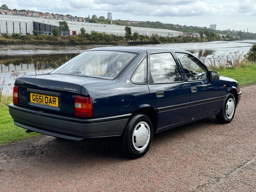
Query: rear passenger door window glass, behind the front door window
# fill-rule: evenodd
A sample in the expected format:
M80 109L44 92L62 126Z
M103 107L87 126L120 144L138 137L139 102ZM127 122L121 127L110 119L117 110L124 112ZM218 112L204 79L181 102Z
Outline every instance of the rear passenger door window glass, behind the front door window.
M171 53L150 55L150 84L182 81L180 70Z

